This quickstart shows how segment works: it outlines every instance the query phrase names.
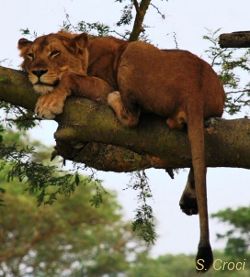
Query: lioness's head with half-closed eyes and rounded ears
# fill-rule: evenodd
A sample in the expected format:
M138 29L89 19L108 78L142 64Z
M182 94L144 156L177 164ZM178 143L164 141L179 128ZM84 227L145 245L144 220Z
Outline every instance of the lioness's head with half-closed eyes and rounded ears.
M60 83L63 73L86 75L88 63L88 37L59 32L38 37L33 42L25 38L18 41L24 61L22 68L36 92L46 94Z

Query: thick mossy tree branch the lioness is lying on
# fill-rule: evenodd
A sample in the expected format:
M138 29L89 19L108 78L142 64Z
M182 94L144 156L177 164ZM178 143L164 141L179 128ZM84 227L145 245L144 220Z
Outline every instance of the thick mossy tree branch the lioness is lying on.
M0 100L33 110L36 99L23 73L0 67ZM191 165L186 132L153 115L124 128L106 105L72 97L56 121L56 151L66 159L117 172ZM207 166L250 168L249 119L213 120L205 140Z

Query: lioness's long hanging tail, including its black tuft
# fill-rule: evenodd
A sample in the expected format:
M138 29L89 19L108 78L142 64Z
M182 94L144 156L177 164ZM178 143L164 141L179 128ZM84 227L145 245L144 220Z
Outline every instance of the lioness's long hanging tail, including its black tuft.
M206 190L206 165L204 145L204 122L202 107L188 107L188 138L191 145L194 169L195 191L199 212L200 241L196 256L196 268L206 271L213 263L213 254L209 242L209 223ZM202 267L198 267L202 265Z

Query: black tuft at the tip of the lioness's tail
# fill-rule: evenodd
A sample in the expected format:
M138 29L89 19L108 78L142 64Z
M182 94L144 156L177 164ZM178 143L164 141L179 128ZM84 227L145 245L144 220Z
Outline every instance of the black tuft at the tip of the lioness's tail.
M196 256L196 271L204 273L213 264L213 252L210 245L199 246Z

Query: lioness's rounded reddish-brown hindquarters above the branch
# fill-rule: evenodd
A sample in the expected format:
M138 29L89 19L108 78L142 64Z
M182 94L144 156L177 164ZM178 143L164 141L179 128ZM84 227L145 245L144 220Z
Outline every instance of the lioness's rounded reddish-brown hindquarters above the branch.
M224 90L218 76L207 62L189 51L129 43L121 56L118 82L136 94L140 105L162 115L194 98L204 104L205 117L220 116L223 110Z

